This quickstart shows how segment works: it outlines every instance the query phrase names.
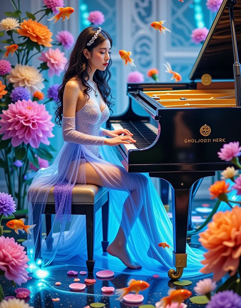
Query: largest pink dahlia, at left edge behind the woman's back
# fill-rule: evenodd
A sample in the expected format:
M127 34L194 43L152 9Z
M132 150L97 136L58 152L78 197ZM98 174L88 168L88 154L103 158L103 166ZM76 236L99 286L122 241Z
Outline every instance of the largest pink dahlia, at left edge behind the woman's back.
M38 148L40 142L49 145L48 138L54 137L52 134L54 124L50 121L52 115L46 111L45 105L32 102L31 99L9 104L8 109L3 110L0 117L2 140L12 138L13 147L24 142L33 148Z

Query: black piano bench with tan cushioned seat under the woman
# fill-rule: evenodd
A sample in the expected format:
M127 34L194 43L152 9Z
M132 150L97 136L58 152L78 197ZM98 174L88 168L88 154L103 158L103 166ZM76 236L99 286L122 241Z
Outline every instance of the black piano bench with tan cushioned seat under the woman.
M46 206L44 209L45 220L46 220L46 238L48 236L47 249L52 250L52 215L55 214L55 202L53 194L54 186L50 189L46 201ZM38 194L38 191L35 190ZM42 191L35 201L35 207L38 207L38 203L42 204L43 197L46 192ZM102 249L106 252L108 242L108 217L109 217L109 195L108 191L104 187L92 185L92 184L76 184L72 190L72 215L85 215L86 221L86 240L87 240L87 255L88 260L86 261L87 269L89 273L93 273L95 260L93 259L94 253L94 234L95 234L95 213L102 209ZM37 226L40 224L39 213L35 213L33 209L33 223ZM41 241L42 241L42 225L40 226L39 233L37 233L37 228L33 228L33 235L35 241L37 241L35 249L35 260L41 259ZM37 238L36 238L37 237ZM45 238L45 240L46 240Z

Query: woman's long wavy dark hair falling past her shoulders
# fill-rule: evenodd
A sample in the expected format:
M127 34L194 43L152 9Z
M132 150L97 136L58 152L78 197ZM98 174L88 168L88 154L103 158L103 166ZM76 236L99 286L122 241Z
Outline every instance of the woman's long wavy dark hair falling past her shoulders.
M99 44L102 44L106 39L109 39L110 46L112 47L113 41L110 37L110 34L105 30L101 30L101 32L97 36L97 39L95 39L90 46L87 46L87 43L89 43L89 41L92 39L97 30L98 27L90 26L88 28L85 28L79 34L76 43L73 47L73 50L71 51L71 54L69 56L69 62L65 66L63 82L58 88L58 100L56 102L57 107L55 108L55 122L60 126L63 117L64 87L66 83L69 81L69 79L73 78L74 76L77 76L81 80L83 86L85 87L84 94L86 100L89 99L88 92L91 90L91 87L87 83L87 81L89 80L89 74L88 74L89 64L87 58L83 53L84 49L86 48L89 52L92 52L95 47L97 47ZM113 111L111 110L111 107L114 106L114 103L111 102L111 99L113 99L113 97L111 94L111 89L108 85L108 82L111 78L111 73L110 73L111 63L112 61L110 59L109 64L105 71L96 70L93 75L93 81L97 83L98 89L105 103L109 107L110 111L113 113Z

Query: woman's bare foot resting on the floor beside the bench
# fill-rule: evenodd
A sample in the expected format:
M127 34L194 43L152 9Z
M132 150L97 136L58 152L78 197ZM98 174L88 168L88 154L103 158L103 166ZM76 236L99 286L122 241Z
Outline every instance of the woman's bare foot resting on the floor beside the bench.
M114 241L107 247L107 252L114 257L119 258L127 267L131 269L139 269L141 266L131 260L131 256L127 251L126 245L118 245Z

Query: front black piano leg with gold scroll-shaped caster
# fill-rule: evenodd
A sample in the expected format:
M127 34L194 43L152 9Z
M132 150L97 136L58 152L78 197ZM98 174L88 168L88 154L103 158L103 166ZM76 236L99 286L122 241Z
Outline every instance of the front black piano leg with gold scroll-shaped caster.
M186 241L192 185L197 180L214 174L214 171L149 173L151 177L168 181L172 188L173 265L176 268L168 271L168 277L172 280L181 278L183 269L187 267Z

